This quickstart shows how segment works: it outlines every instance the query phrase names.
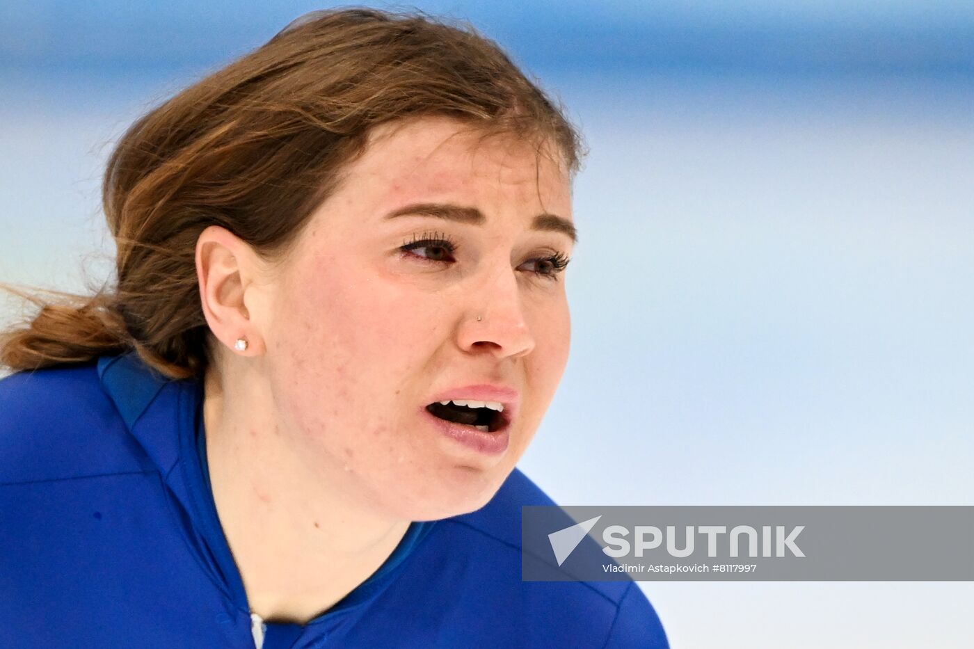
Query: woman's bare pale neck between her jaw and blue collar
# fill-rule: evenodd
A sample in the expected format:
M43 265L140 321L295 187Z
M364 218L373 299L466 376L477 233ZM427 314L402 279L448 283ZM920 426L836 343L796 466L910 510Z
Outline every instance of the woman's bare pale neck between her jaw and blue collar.
M254 378L243 368L206 373L213 499L250 611L304 624L374 573L410 521L356 500L341 470L311 474Z

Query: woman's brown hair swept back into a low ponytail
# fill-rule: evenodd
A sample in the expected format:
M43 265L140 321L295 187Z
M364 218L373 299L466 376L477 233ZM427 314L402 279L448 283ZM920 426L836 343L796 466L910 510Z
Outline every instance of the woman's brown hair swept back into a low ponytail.
M492 41L423 15L346 9L295 20L263 47L136 121L102 185L117 286L48 291L0 334L14 370L135 350L170 378L202 376L209 334L195 266L220 225L278 258L376 126L447 115L484 133L553 142L570 172L579 136ZM540 145L540 144L539 144Z

